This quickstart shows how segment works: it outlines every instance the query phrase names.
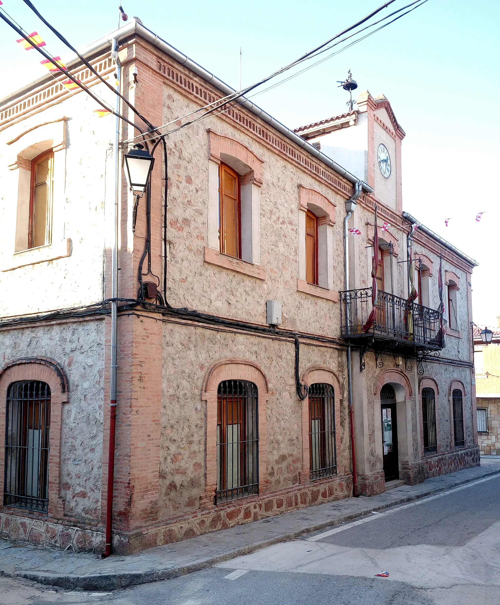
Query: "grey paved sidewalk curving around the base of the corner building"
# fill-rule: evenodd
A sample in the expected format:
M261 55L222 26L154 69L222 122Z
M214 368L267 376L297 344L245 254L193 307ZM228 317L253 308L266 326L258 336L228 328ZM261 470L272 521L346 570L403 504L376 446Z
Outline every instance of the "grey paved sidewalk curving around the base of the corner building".
M113 590L166 580L494 474L500 474L500 460L481 459L481 466L428 479L416 486L402 485L376 496L311 506L128 557L100 559L87 553L16 546L0 540L0 574L84 590Z

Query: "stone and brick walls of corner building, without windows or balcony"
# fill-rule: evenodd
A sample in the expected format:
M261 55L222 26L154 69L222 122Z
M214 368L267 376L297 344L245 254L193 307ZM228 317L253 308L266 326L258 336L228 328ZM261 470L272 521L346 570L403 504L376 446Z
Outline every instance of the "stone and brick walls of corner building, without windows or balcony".
M164 47L141 38L139 24L127 27L134 27L137 35L127 38L120 29L123 91L153 123L171 122L222 96ZM102 53L93 63L103 74L112 73L109 49ZM78 73L107 96L100 83ZM47 102L39 102L42 98ZM360 120L368 137L367 158L374 157L379 139L386 141L395 154L395 173L384 183L368 163L366 178L375 192L361 195L350 219L349 226L361 235L349 242L349 286L370 286L367 246L373 239L377 204L379 219L391 224L389 231L379 233L393 252L384 255L384 288L390 284L395 295L406 298L407 271L401 262L406 259L408 231L401 215L404 132L385 97L375 100L366 93L361 105L367 116ZM57 423L50 427L47 514L5 505L0 515L4 537L98 553L107 500L110 393L110 317L102 301L110 295L114 192L113 159L107 150L113 125L109 117L99 121L93 108L84 94L67 94L52 80L33 83L0 105L0 171L6 175L2 200L21 196L19 171L47 141L54 149L56 181L51 243L16 252L22 235L18 232L1 244L2 302L5 295L7 306L2 306L5 319L0 323L0 396L5 401L13 381L43 379L51 385L52 417L60 422L60 430ZM123 140L136 134L123 125ZM395 137L391 144L390 136ZM119 313L113 546L123 554L343 499L353 492L347 358L340 338L338 294L344 289L344 201L353 193L352 183L238 105L171 134L166 146L165 291L170 307L153 301L137 304L145 200L139 202L133 229L134 197L124 178L120 181L119 297L120 304L128 301L130 306ZM219 249L220 162L240 174L245 223L241 259ZM65 180L60 178L64 171ZM163 275L162 178L158 155L151 180L148 280ZM387 185L384 191L382 185ZM22 208L14 205L2 201L5 224L22 224ZM305 279L306 211L318 218L317 284ZM472 363L464 362L472 355L472 264L419 231L413 253L427 263L426 306L438 306L439 258L443 274L453 273L459 330L447 336L440 358L430 356L419 364L397 352L375 355L372 348L355 347L357 475L360 492L366 495L385 489L380 408L385 384L393 385L396 393L401 478L413 484L479 463ZM163 291L162 278L157 281ZM13 293L21 289L37 295L18 302ZM266 323L268 300L283 303L283 321L275 328ZM33 317L54 309L62 311ZM189 315L185 309L198 313ZM14 316L16 323L9 323ZM327 384L334 391L335 465L331 476L320 480L311 475L309 399L299 399L296 374L305 385ZM249 381L257 388L258 494L217 503L217 388L225 380ZM431 456L424 453L421 402L421 389L430 384L436 391L438 436ZM463 393L465 445L460 448L453 441L450 408L456 385Z

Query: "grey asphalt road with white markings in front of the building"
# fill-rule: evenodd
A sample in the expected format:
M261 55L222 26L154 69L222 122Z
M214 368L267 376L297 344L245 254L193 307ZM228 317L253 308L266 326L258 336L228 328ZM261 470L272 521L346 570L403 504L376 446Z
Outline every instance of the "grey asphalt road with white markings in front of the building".
M113 593L0 578L0 605L28 603L500 605L500 477Z

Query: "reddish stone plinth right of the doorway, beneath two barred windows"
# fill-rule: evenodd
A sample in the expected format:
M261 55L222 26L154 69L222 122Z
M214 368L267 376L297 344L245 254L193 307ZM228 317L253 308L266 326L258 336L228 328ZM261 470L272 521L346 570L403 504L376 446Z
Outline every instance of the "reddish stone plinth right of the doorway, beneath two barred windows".
M460 448L446 454L426 456L418 462L403 462L400 479L403 479L408 485L416 485L430 477L455 473L455 471L472 468L473 466L480 466L479 447L477 445Z

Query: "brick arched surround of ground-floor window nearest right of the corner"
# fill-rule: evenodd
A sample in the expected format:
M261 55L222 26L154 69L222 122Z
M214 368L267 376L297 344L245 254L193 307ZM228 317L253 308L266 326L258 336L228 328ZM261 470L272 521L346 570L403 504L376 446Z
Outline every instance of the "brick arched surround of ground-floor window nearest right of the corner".
M214 503L217 489L217 388L225 380L253 382L258 389L258 490L268 489L267 474L267 402L269 384L259 365L248 359L220 359L206 371L203 379L202 401L206 401L206 465L205 492L200 495L200 507Z

